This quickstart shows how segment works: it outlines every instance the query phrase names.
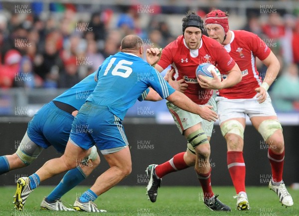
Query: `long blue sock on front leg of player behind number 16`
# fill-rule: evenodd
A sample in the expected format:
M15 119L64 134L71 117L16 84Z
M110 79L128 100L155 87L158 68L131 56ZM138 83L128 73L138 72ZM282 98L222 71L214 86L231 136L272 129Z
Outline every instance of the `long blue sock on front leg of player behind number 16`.
M64 194L86 179L80 167L68 171L60 181L59 185L47 196L49 202L59 200Z

